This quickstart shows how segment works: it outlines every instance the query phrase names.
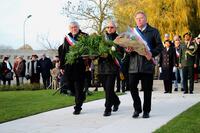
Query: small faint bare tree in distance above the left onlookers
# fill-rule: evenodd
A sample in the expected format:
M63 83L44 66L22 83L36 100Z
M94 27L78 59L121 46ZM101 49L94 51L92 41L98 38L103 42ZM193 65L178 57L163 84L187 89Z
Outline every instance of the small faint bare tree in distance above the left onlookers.
M38 34L37 41L43 46L44 49L53 51L57 51L60 44L59 42L50 40L49 34Z

